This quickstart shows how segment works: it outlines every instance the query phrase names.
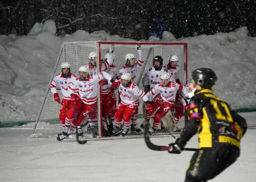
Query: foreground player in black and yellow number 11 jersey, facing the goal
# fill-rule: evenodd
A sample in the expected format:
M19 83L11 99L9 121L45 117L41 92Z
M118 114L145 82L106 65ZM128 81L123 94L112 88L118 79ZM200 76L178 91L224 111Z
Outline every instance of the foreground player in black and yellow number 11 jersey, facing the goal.
M199 149L193 154L185 182L206 182L233 164L240 154L240 140L247 130L246 120L214 95L217 76L209 68L192 72L194 95L190 119L180 137L171 143L169 153L181 153L186 143L199 132Z

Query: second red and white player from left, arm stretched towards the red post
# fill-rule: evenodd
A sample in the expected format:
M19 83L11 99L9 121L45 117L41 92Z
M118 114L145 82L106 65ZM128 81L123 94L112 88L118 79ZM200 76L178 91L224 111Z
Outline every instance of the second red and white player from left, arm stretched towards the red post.
M68 86L68 90L73 91L70 100L75 102L75 109L77 116L77 125L86 118L86 116L95 107L97 101L97 84L100 80L106 79L113 82L113 79L106 72L100 72L99 74L90 75L90 69L88 66L81 66L79 68L79 77ZM78 114L79 113L79 114ZM89 122L90 127L96 132L95 123ZM74 107L68 108L65 117L65 127L62 135L58 136L57 140L61 141L66 138L71 131L75 130L74 121Z

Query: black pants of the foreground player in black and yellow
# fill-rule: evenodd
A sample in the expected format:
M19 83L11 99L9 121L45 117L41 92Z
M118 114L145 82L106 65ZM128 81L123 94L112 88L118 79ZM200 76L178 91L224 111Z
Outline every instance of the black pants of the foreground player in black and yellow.
M206 182L213 179L233 164L239 155L240 149L232 145L198 149L186 171L185 182Z

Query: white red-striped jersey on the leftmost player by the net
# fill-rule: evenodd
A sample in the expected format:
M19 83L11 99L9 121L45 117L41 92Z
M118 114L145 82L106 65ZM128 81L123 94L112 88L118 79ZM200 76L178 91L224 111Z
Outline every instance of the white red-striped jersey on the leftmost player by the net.
M68 85L71 83L74 83L76 79L77 79L77 76L75 76L72 73L70 73L70 76L67 78L64 78L62 73L57 74L57 76L50 83L51 92L53 94L57 93L57 84L58 84L60 86L63 98L70 100L70 94L72 94L73 92L68 89Z

